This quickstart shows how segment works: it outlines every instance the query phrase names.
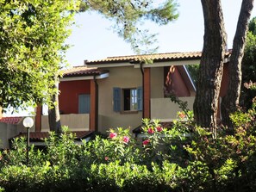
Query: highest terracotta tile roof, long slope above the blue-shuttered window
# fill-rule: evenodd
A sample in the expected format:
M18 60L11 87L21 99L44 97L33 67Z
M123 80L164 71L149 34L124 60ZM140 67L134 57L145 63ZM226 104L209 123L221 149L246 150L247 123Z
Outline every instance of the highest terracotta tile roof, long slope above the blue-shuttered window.
M229 54L230 54L230 50L228 50L228 52L226 53L226 56L228 56ZM151 59L153 61L201 59L201 56L202 56L202 52L155 53L155 54L144 54L144 55L108 57L106 59L86 61L85 64L93 65L93 64L100 64L100 63L139 62L145 59Z

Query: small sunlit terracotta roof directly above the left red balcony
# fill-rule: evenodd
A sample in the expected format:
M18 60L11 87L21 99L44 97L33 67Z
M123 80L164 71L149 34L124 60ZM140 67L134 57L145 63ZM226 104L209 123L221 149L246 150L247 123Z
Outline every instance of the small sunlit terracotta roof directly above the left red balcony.
M63 77L78 77L78 76L95 76L95 75L101 75L103 73L106 73L108 71L103 71L97 69L97 67L87 67L85 65L81 66L74 66L70 69L63 70Z

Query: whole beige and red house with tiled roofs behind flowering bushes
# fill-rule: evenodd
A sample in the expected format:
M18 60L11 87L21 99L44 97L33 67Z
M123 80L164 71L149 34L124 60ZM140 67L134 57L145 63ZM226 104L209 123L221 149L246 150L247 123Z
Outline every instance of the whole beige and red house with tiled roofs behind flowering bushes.
M201 52L159 53L84 61L64 71L59 83L61 123L74 131L100 131L141 124L142 118L172 121L180 110L165 91L192 105L196 87L186 65L200 63ZM228 64L228 57L226 54ZM147 62L149 61L149 62ZM150 62L153 61L153 62ZM225 65L221 96L227 91ZM36 130L47 131L47 117L37 113Z

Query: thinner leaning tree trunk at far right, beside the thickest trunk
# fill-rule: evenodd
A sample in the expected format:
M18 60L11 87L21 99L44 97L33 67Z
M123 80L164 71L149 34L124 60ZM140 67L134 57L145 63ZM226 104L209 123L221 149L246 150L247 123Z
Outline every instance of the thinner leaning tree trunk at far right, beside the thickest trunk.
M233 50L228 65L229 82L227 96L222 99L222 123L233 130L232 121L229 115L239 107L240 85L241 85L241 61L246 46L248 23L253 9L254 0L243 0L234 35Z

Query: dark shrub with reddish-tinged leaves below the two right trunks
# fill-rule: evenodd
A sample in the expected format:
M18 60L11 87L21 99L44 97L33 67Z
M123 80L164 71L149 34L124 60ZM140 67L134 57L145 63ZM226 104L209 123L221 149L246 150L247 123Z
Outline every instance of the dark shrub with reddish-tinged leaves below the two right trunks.
M198 188L203 191L255 189L255 115L255 108L231 115L235 125L232 135L222 127L213 138L208 129L194 127L190 145L185 146L185 150L190 154L190 163L197 164L194 168L203 169L200 177L207 178L200 179Z

